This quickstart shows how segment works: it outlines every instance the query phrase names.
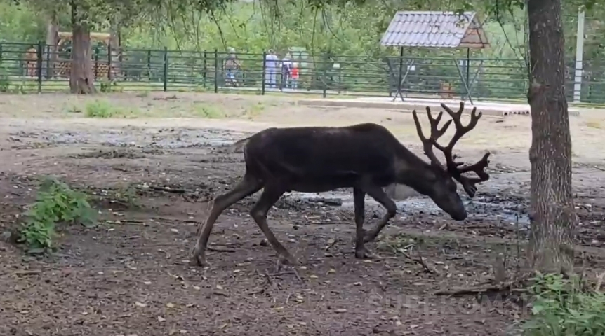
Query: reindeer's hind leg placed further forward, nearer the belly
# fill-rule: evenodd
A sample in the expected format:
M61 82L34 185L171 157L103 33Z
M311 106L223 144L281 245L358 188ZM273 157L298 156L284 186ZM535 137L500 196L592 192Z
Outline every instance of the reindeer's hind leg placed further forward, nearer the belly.
M300 265L300 262L298 262L298 260L294 258L293 255L288 252L288 250L286 250L284 245L281 245L281 243L277 240L277 237L273 235L273 232L271 232L269 225L267 224L267 213L269 212L271 207L273 207L273 204L275 204L275 202L279 200L279 197L281 197L281 195L284 195L284 192L284 188L281 188L281 186L277 184L265 186L265 190L262 190L260 199L251 209L250 216L254 218L254 221L256 222L262 233L265 234L265 237L267 237L267 241L269 241L269 244L273 246L273 249L277 252L278 255L281 255L281 257L285 258L288 262L290 262L291 265Z

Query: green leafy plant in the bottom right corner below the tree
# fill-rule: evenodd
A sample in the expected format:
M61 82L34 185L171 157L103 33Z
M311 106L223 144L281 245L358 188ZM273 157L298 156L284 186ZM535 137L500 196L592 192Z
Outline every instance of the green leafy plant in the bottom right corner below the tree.
M587 292L577 276L538 274L531 287L535 297L524 336L605 335L605 295Z

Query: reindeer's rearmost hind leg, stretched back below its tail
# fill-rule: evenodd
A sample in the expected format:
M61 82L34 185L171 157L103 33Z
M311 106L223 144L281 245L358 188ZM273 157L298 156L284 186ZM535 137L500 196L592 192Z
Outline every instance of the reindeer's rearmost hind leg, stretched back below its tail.
M222 211L225 211L225 209L230 207L232 204L243 200L253 193L256 193L261 188L261 181L258 181L258 179L255 179L252 176L244 175L244 179L237 183L237 186L235 186L232 190L215 197L211 203L212 206L204 226L201 228L201 230L200 228L197 230L197 243L195 244L192 255L192 265L206 265L206 246L208 245L208 237L210 237L214 223L216 222L218 216L222 214Z

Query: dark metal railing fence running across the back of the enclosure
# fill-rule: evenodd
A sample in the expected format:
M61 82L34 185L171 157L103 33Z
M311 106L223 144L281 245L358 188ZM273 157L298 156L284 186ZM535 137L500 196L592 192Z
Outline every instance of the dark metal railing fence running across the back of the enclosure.
M328 57L296 55L297 76L284 72L266 54L213 51L93 48L93 75L102 91L251 90L328 94L440 96L473 99L521 99L527 92L526 66L519 59ZM575 62L567 62L566 92L574 94ZM585 62L580 98L605 103L605 64ZM69 50L42 43L0 43L0 92L48 92L69 89ZM576 92L577 93L577 92Z

